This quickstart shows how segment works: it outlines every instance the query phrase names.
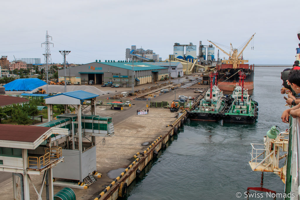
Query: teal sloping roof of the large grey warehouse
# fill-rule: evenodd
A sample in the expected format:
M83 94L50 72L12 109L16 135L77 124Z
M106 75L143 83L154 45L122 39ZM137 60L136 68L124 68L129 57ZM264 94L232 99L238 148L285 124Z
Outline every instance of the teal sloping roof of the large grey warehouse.
M110 65L113 67L120 67L127 70L132 70L132 62L98 62L101 64ZM134 71L140 70L159 70L165 69L165 67L160 67L157 65L149 64L149 62L134 62Z

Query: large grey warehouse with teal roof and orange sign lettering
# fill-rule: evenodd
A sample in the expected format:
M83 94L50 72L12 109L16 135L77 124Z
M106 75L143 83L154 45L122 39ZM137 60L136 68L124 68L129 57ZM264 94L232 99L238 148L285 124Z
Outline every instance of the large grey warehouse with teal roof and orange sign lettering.
M66 69L66 80L71 84L93 84L132 86L132 64L134 64L134 85L156 82L169 76L168 68L145 62L92 62ZM58 80L64 80L64 69L58 70Z

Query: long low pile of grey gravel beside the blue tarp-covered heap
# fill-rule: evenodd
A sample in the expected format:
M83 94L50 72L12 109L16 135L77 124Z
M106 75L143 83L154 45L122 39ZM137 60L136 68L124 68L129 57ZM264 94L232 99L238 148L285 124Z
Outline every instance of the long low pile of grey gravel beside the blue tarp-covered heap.
M47 90L47 85L43 85L41 87L38 88L43 88L44 90ZM34 90L32 90L30 93L36 92L38 90L38 88L35 88ZM52 93L52 92L64 92L64 85L48 85L48 93ZM112 93L112 91L102 91L99 90L98 88L96 88L95 86L87 86L87 85L67 85L67 92L71 92L71 91L76 91L76 90L82 90L82 91L86 91L86 92L90 92L93 94L107 94L107 93Z

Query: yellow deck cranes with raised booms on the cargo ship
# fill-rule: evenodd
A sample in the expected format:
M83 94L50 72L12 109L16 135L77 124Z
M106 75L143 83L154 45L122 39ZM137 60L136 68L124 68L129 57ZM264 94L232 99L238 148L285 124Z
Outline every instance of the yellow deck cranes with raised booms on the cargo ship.
M250 37L250 39L247 41L247 43L244 45L243 49L240 52L238 52L238 49L233 48L231 43L230 43L230 52L227 53L226 51L224 51L222 48L217 46L212 41L209 41L209 40L207 40L207 41L212 43L214 46L216 46L218 49L220 49L223 53L228 55L229 56L228 60L223 60L222 62L226 63L226 64L232 64L233 68L235 69L235 68L239 68L239 66L238 66L239 64L244 64L244 63L248 62L248 60L239 59L239 57L243 53L245 48L248 46L248 44L250 43L250 41L252 40L254 35L255 35L255 33Z

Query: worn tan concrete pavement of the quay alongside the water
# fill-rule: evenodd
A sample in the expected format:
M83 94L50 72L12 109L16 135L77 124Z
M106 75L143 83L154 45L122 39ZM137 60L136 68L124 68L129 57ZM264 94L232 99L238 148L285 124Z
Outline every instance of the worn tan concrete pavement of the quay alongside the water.
M178 95L196 98L199 96L199 93L193 93L193 90L207 87L207 85L193 85L190 88L178 88L176 93L172 90L169 93L153 98L152 101L164 100L171 103L175 97L178 99ZM124 89L122 88L121 91ZM128 90L128 88L126 89ZM118 92L120 92L119 88ZM109 95L111 94L100 96L99 100L106 99ZM145 151L158 137L165 136L173 128L167 127L167 125L172 124L176 120L178 112L171 113L170 109L164 108L149 108L149 114L137 115L137 110L146 109L146 101L132 101L132 104L131 108L126 107L123 111L111 110L109 106L105 105L96 106L97 115L111 116L113 118L115 135L104 138L105 143L102 137L97 138L97 170L102 174L102 177L98 178L96 183L90 185L88 189L73 189L77 199L95 199L101 191L107 188L135 160L134 155L137 152ZM88 112L88 110L85 112ZM7 176L7 174L5 175ZM35 185L39 185L42 181L40 176L31 176L31 178ZM54 194L62 188L54 186ZM35 196L32 186L30 189L31 198L37 199L38 196ZM39 190L39 186L37 190ZM13 199L11 191L11 178L0 183L1 199ZM42 198L45 199L45 195L42 195Z

